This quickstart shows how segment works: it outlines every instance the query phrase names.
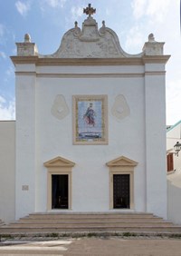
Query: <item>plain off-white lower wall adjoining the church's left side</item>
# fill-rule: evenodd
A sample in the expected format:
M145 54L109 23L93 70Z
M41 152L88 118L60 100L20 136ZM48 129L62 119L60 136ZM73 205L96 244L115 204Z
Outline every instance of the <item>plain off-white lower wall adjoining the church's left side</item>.
M0 121L0 219L15 218L15 122Z

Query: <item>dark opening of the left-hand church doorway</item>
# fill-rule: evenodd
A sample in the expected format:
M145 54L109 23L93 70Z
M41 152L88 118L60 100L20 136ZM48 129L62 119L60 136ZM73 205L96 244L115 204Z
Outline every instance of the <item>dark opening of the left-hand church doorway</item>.
M69 175L52 174L52 209L69 208Z

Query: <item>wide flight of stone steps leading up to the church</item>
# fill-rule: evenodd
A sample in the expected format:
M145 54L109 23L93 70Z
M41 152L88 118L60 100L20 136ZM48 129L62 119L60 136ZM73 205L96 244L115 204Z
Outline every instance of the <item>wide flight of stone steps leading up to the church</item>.
M181 226L151 213L32 213L0 227L0 233L151 231L180 232Z

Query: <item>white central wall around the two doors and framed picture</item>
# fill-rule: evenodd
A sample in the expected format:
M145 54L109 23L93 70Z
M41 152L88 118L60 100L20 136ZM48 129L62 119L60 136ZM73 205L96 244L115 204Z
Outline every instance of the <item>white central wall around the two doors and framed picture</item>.
M112 67L109 67L110 70ZM76 70L76 67L74 68ZM96 68L97 71L99 68ZM87 67L86 72L89 72ZM37 90L37 133L39 145L39 180L46 184L43 162L55 156L62 156L75 162L72 170L72 210L100 212L110 209L109 168L106 162L120 155L141 162L135 169L135 201L137 210L145 211L145 169L144 169L144 103L143 80L137 78L69 78L38 79ZM50 84L52 86L50 87ZM132 85L132 90L129 86ZM52 116L50 110L57 94L62 94L71 111L71 97L76 94L107 94L109 101L109 144L72 145L72 114L62 121ZM118 94L123 94L129 103L130 115L117 121L110 108ZM138 101L137 96L138 95ZM139 122L138 122L139 120ZM129 127L129 128L128 128ZM134 127L134 129L133 129ZM44 139L46 138L46 139ZM140 149L138 150L138 145ZM142 165L142 166L141 166ZM39 189L37 211L46 210L46 186Z

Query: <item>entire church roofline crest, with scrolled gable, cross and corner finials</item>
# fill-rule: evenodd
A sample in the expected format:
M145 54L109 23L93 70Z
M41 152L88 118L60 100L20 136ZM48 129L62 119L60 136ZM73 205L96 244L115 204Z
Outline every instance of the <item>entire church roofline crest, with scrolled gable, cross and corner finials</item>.
M145 56L163 56L163 45L155 40L154 34L148 35L148 42L139 54L126 53L119 44L118 35L102 21L98 24L92 15L96 9L89 4L83 9L88 15L82 27L75 22L73 28L62 36L62 42L54 54L39 54L36 44L31 42L29 34L24 35L24 43L16 43L17 56L36 56L38 59L141 59Z

